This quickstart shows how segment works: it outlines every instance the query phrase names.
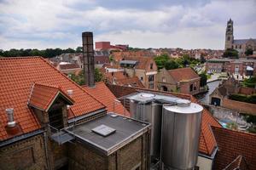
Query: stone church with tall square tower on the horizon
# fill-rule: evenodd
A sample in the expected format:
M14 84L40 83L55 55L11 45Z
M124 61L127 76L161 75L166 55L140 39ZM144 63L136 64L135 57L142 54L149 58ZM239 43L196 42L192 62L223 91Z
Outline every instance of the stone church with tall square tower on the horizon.
M225 34L225 49L236 49L240 55L243 55L247 49L256 51L256 39L235 39L233 20L228 20Z

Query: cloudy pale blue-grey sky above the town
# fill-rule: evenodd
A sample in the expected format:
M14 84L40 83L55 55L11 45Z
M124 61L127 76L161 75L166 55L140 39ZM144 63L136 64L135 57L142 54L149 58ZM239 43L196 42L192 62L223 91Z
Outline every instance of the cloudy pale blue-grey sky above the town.
M256 0L0 0L0 49L76 48L95 41L138 48L224 48L256 38Z

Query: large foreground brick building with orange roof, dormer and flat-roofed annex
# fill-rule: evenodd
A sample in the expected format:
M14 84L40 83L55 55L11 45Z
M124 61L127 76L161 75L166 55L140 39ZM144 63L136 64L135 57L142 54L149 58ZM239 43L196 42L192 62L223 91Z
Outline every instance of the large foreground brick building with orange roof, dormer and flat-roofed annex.
M101 96L83 89L39 57L1 58L0 65L1 170L147 169L149 127L107 114L127 113L108 88L96 84ZM106 141L108 147L97 143L102 138L98 133L90 133L96 140L81 134L100 126L98 122L115 129L104 137L114 141ZM127 160L129 156L134 159Z

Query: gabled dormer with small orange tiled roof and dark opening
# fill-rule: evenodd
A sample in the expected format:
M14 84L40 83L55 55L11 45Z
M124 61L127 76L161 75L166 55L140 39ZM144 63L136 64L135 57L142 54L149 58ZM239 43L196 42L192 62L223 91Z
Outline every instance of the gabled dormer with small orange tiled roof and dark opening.
M38 116L39 122L45 126L49 124L55 129L61 129L67 123L64 117L67 117L67 105L73 105L73 99L69 95L73 90L69 89L63 92L61 88L45 84L34 83L32 91L27 101ZM42 116L46 114L48 116Z

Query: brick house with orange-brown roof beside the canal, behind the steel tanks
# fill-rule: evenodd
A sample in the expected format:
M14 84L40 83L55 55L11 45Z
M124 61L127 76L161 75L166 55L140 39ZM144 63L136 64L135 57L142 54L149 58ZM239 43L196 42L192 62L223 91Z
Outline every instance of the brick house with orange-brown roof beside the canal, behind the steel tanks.
M163 91L192 95L200 92L200 77L190 67L170 71L161 69L156 81L158 89Z

